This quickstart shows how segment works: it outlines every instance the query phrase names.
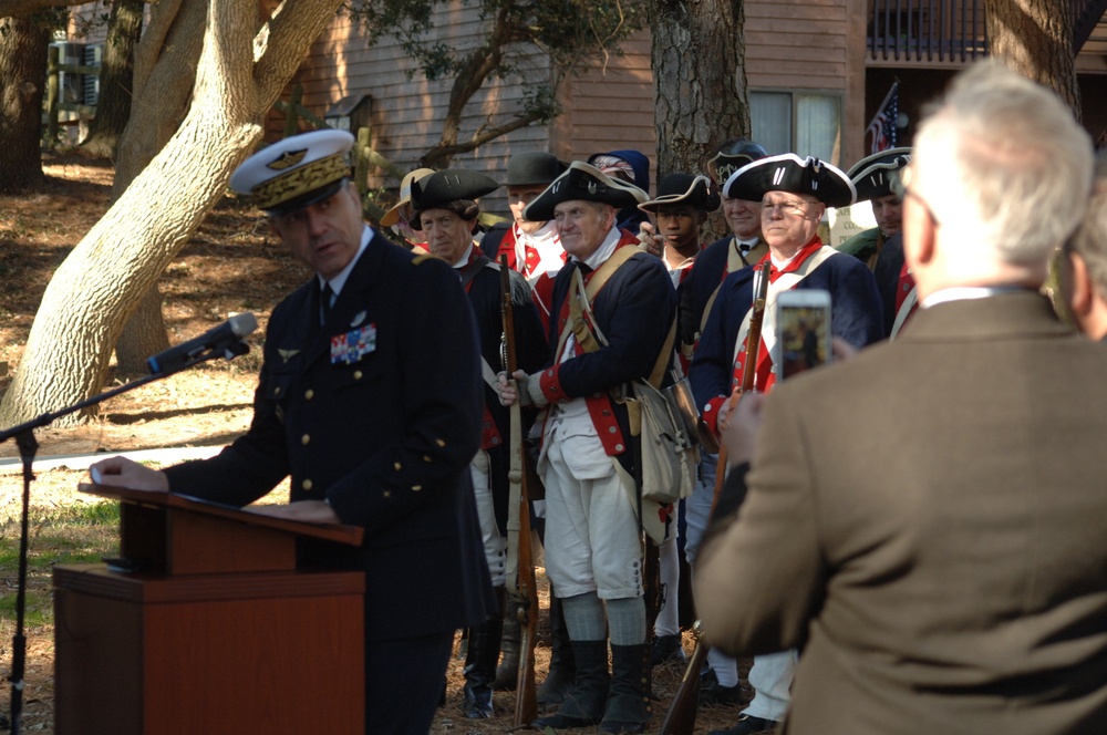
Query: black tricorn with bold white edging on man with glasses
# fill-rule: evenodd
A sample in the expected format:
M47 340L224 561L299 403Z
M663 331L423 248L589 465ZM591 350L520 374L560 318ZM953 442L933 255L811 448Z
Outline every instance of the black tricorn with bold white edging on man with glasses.
M782 153L746 164L731 174L723 191L732 199L761 201L768 191L808 194L828 207L848 207L857 191L852 182L838 168L818 158L800 158Z

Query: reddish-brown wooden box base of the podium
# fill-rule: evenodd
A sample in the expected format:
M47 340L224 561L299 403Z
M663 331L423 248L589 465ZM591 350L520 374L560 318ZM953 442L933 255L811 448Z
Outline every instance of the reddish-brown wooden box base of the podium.
M58 735L362 735L364 574L54 569Z

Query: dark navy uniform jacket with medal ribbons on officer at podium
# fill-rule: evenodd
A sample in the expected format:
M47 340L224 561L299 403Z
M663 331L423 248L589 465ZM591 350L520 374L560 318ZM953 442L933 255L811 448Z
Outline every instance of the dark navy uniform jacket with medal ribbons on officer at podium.
M479 624L496 602L469 476L482 379L461 282L374 234L323 327L319 293L313 277L273 310L249 432L167 469L170 488L241 506L291 474L292 500L325 498L365 529L361 548L306 542L300 561L365 571L366 642Z

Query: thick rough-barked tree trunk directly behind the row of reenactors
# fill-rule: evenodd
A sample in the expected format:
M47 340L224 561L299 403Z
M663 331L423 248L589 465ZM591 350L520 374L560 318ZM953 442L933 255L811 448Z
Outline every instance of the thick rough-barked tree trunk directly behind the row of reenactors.
M654 0L658 180L706 174L720 145L749 136L744 27L742 0Z

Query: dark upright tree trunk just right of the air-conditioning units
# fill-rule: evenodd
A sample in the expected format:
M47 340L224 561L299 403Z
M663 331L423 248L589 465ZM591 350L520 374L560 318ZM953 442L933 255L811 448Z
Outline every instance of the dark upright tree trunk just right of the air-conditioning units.
M155 6L156 11L157 6ZM134 50L142 34L142 0L116 0L107 21L103 65L100 68L100 100L89 137L81 147L96 156L115 157L120 135L131 117Z

